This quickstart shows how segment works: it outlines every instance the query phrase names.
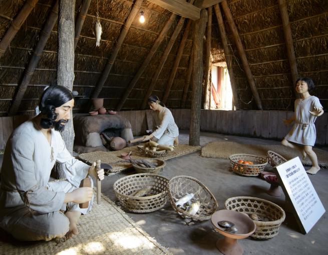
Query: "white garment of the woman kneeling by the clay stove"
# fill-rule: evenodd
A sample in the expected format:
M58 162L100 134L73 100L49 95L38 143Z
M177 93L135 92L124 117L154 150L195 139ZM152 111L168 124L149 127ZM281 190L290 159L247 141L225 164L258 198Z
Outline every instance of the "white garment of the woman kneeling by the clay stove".
M179 128L174 122L171 111L163 107L158 117L161 124L153 132L153 136L158 139L158 144L173 145L174 138L179 135Z

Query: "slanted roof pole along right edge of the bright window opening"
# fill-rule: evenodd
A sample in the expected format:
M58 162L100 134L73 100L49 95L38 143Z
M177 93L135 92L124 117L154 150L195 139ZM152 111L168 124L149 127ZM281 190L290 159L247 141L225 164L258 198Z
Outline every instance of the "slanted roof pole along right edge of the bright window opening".
M233 73L233 69L232 69L232 63L231 63L232 62L232 56L230 54L230 50L229 50L229 46L228 46L228 40L227 40L227 36L226 36L226 33L225 33L225 29L224 29L223 18L222 18L221 10L220 10L220 7L219 7L218 4L214 6L214 12L215 12L215 15L216 15L217 23L219 25L219 31L220 31L221 42L222 42L223 51L224 51L224 57L225 57L225 61L227 63L227 68L228 68L228 72L229 72L230 84L231 84L231 90L232 90L232 98L233 98L233 105L237 109L240 109L238 94L237 94L237 90L236 90L236 82L235 82L235 77L234 77L234 73Z

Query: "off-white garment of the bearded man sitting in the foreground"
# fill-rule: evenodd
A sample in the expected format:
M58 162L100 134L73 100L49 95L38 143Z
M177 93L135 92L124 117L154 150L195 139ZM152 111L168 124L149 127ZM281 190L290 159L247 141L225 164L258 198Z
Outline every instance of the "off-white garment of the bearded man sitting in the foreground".
M59 162L64 165L65 181L49 182ZM33 121L20 125L7 142L1 172L0 226L21 240L49 240L63 236L68 218L64 197L80 186L89 166L75 159L66 149L61 134L51 129L51 144ZM69 210L87 213L78 204Z

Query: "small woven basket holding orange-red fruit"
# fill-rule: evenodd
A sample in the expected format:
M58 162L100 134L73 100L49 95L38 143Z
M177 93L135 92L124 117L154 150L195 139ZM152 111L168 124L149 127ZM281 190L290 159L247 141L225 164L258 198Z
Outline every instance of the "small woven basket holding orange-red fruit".
M267 165L266 158L251 154L233 154L229 159L232 171L243 176L257 176ZM238 163L238 160L252 161L253 164Z

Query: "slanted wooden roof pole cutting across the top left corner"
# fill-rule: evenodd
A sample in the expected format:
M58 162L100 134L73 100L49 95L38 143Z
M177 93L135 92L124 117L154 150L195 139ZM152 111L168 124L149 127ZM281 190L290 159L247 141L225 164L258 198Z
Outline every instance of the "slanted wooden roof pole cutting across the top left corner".
M39 0L27 0L0 42L0 59Z

